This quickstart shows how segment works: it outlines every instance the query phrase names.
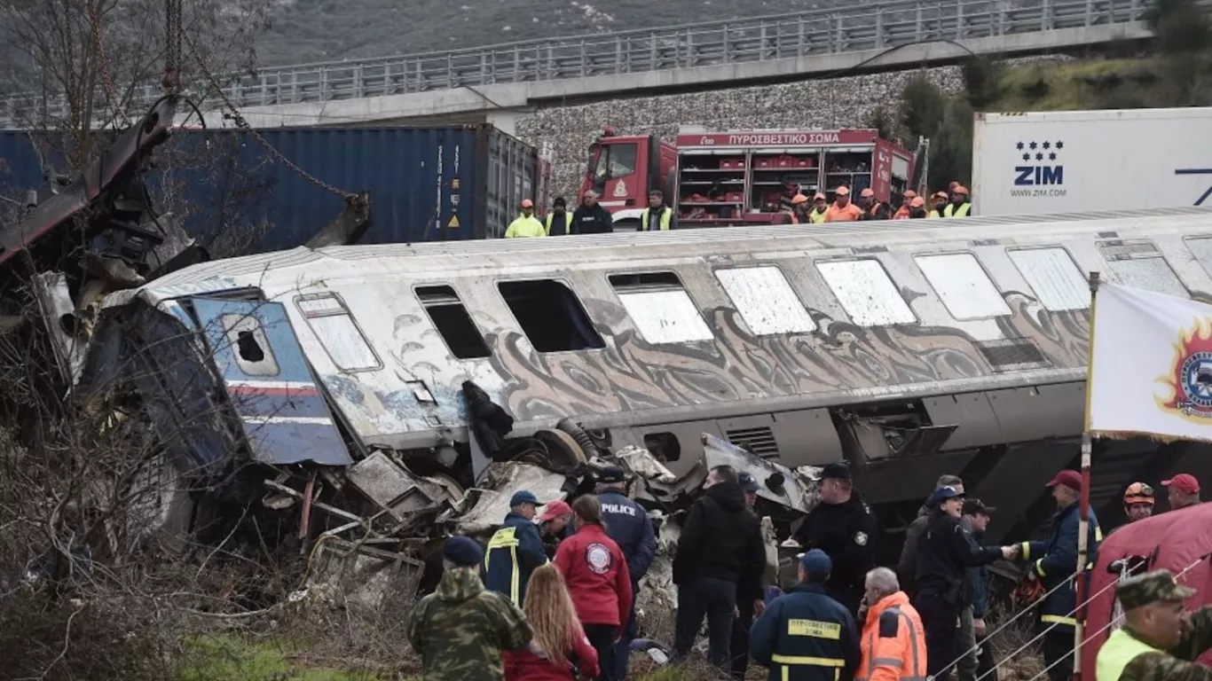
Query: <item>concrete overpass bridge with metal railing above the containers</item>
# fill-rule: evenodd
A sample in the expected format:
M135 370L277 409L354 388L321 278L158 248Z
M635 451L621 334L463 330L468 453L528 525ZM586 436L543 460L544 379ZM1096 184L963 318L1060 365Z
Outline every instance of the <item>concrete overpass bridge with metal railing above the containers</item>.
M1212 0L1204 0L1212 6ZM813 12L261 69L224 78L256 127L490 121L537 108L896 70L1149 38L1148 0L893 0ZM148 86L137 98L159 96ZM0 125L39 98L0 105ZM51 107L62 105L52 102ZM207 115L211 125L230 125Z

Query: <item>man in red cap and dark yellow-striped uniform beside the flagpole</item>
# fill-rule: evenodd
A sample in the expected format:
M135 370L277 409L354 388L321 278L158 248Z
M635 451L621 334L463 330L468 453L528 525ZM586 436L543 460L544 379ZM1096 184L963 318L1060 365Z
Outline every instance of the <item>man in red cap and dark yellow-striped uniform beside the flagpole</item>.
M1057 503L1052 516L1052 530L1044 542L1023 542L1022 559L1028 561L1028 579L1037 579L1045 593L1051 593L1040 605L1040 626L1044 634L1044 664L1048 666L1048 679L1068 681L1073 677L1073 630L1077 625L1074 573L1086 576L1090 566L1098 561L1098 544L1103 533L1098 528L1094 509L1090 509L1090 534L1087 538L1088 562L1077 565L1077 503L1081 500L1081 474L1062 470L1047 485ZM1056 589L1053 591L1053 589ZM1054 626L1053 626L1054 625ZM1048 629L1051 628L1051 629Z

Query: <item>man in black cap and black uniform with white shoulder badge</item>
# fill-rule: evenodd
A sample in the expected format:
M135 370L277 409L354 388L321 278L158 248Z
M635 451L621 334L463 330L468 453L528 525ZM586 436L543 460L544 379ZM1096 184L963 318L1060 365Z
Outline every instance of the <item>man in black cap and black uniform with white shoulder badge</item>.
M821 549L834 566L829 590L854 616L863 601L863 577L875 567L875 515L853 488L850 467L830 463L821 471L821 503L804 519L794 538Z

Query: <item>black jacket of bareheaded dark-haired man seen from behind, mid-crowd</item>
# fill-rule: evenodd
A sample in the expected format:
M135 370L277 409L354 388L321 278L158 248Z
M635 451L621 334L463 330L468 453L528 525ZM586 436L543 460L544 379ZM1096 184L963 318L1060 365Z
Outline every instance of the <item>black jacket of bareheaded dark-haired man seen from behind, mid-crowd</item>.
M674 584L698 577L737 583L737 595L761 597L766 548L761 521L748 513L737 483L720 482L694 500L674 555Z

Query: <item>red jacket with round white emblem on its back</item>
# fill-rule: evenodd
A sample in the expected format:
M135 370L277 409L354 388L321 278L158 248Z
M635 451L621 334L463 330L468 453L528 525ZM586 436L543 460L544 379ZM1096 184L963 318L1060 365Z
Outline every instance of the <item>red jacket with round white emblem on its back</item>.
M568 584L582 624L624 623L631 611L631 576L623 550L600 525L585 525L560 542L553 562Z

